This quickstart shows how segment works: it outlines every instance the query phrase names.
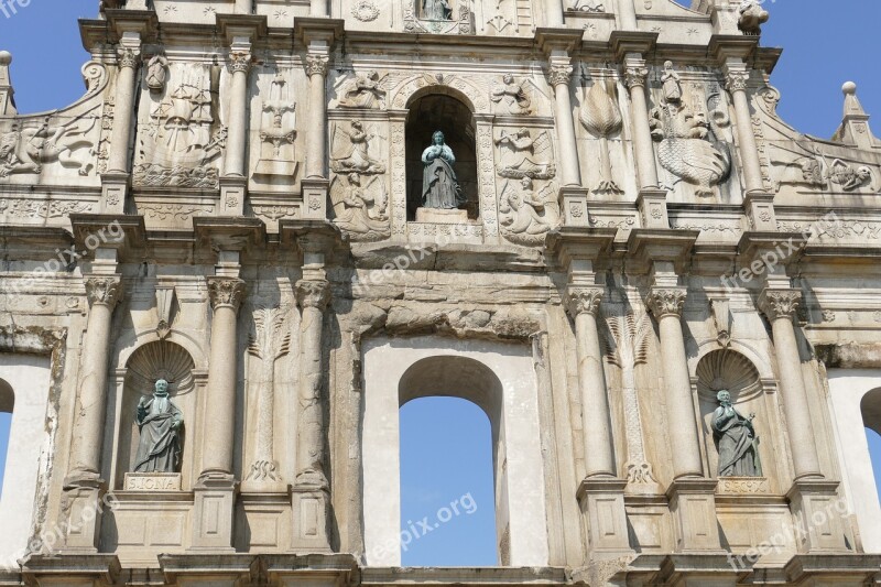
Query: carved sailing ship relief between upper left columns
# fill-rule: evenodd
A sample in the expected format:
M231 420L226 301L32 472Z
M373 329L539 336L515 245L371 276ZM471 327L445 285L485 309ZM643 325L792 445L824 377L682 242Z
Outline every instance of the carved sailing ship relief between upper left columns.
M140 135L139 162L133 181L138 185L216 188L215 165L226 148L227 129L217 122L206 68L188 75L150 112Z

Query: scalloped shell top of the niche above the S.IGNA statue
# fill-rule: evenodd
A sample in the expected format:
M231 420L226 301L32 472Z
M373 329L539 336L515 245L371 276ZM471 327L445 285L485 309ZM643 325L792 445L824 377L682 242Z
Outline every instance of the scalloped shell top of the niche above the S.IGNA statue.
M128 363L126 383L141 395L153 393L157 379L168 382L171 395L193 391L193 357L180 345L160 340L135 350Z

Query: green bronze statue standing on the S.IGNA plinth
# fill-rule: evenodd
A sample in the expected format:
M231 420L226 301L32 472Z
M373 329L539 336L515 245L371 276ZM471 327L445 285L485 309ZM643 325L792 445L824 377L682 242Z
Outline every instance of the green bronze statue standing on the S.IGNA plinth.
M184 414L168 399L168 382L156 381L152 398L141 398L134 416L141 431L134 472L175 472L181 457L178 430Z

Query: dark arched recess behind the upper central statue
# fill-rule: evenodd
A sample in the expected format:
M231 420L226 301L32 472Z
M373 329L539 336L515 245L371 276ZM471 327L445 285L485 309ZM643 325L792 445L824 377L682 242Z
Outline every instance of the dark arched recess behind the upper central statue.
M444 142L456 159L453 170L460 189L460 209L468 218L479 215L477 183L477 151L475 135L477 126L471 110L456 97L429 94L414 100L409 107L406 120L406 186L407 219L416 218L416 209L423 205L423 176L425 165L422 154L433 144L435 132L444 133Z

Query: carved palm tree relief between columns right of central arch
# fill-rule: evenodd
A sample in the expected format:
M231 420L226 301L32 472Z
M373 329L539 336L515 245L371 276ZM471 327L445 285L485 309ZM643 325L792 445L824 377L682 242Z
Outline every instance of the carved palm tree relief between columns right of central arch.
M617 314L606 318L609 325L607 359L621 369L621 392L624 400L624 431L627 436L628 483L653 486L657 483L652 466L645 458L639 395L637 393L637 366L645 365L649 357L649 334L652 323L644 313Z

